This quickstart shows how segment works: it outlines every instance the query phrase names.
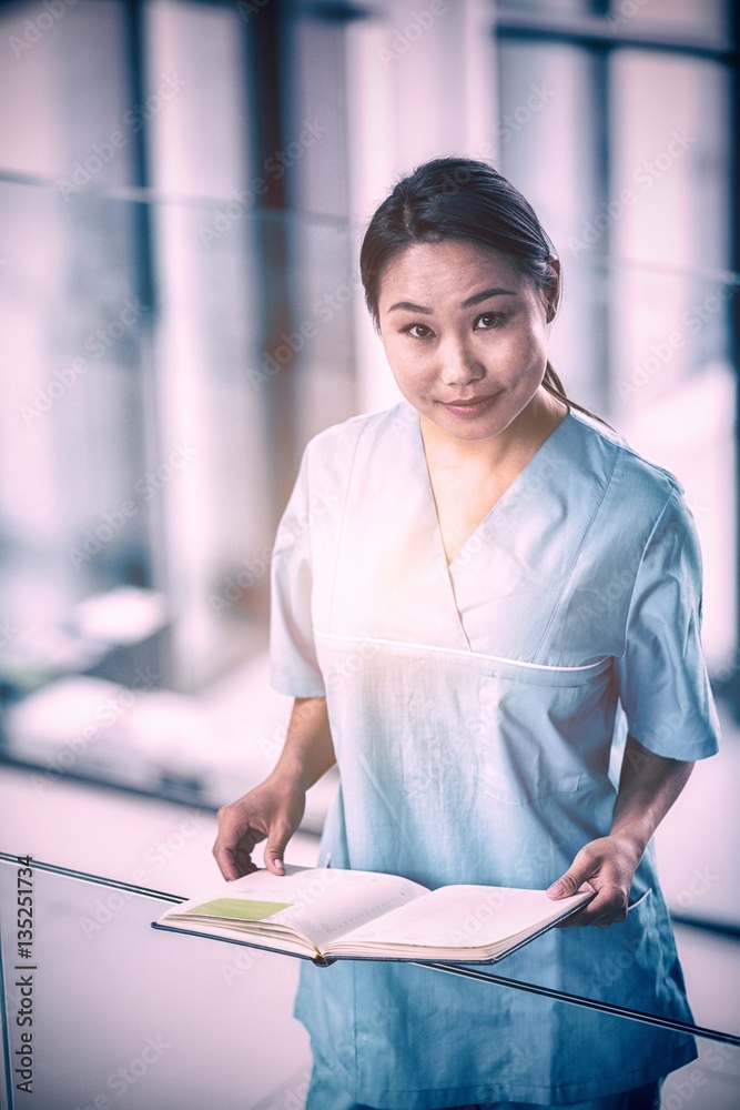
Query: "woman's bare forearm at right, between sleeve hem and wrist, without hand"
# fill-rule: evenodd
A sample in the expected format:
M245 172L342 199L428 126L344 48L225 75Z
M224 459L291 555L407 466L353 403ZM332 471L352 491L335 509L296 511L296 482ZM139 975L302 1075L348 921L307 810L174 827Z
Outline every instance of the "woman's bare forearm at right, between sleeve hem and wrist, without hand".
M610 836L631 841L638 860L692 769L692 763L656 756L628 736Z

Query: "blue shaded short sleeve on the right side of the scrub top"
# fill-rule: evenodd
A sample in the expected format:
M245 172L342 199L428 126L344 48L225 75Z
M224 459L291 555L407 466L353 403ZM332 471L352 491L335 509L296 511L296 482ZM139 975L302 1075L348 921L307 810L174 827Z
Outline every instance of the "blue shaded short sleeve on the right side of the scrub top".
M717 751L719 722L701 647L701 553L677 488L642 553L617 677L628 729L649 751L682 760Z

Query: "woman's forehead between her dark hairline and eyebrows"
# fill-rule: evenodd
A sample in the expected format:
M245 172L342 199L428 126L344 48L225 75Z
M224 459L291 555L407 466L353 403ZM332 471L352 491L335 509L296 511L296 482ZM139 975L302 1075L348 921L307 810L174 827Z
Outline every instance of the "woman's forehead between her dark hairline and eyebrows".
M523 292L527 281L507 255L460 240L413 243L394 255L383 271L379 307L394 301L459 303L487 286Z

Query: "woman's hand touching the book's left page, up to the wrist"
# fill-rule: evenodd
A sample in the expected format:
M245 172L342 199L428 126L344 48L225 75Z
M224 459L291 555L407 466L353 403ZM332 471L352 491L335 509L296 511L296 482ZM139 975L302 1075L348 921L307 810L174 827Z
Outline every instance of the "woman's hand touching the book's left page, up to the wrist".
M271 775L254 790L219 810L219 836L213 855L224 879L256 871L255 845L267 838L265 867L284 875L285 846L297 829L306 807L306 791L291 778Z

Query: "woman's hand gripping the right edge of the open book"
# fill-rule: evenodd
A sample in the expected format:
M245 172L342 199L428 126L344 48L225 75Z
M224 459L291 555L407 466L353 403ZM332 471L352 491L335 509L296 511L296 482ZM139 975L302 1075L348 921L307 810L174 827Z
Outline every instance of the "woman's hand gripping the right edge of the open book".
M587 882L596 890L588 906L566 918L560 928L606 927L627 917L632 877L642 851L627 836L605 836L585 845L559 879L548 887L550 898L575 895Z

